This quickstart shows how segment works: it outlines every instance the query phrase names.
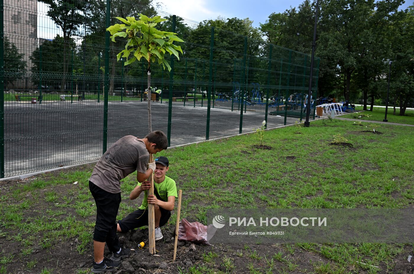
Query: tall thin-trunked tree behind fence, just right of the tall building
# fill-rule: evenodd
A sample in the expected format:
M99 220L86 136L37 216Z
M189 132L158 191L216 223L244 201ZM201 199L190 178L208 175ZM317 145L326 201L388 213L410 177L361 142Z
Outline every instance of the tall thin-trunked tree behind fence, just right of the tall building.
M49 6L47 15L63 32L63 77L60 89L65 89L66 74L69 72L70 39L77 34L77 28L84 22L85 2L79 0L39 0Z

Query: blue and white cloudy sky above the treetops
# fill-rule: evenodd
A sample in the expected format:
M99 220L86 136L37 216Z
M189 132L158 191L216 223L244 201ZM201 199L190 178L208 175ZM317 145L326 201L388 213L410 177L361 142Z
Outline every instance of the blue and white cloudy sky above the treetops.
M253 20L253 26L265 23L272 12L284 12L286 9L298 7L303 0L155 0L161 4L161 9L186 19L201 22L206 19L237 17ZM412 5L412 0L400 6L401 10Z

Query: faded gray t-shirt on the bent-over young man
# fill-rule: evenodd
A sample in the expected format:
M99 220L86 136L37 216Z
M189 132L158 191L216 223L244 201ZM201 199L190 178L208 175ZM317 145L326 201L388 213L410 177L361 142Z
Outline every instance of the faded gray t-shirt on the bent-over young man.
M111 193L121 192L120 180L134 172L147 172L149 152L143 141L128 135L102 155L89 181Z

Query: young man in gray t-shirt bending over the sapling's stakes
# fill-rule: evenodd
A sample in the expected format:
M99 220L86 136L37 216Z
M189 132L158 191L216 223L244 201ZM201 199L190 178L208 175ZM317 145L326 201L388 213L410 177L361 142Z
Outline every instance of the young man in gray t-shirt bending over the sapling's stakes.
M116 215L121 202L120 180L137 171L137 180L142 183L155 170L155 162L148 163L149 154L168 147L168 140L160 130L139 139L132 135L116 141L102 155L89 178L89 190L95 199L96 224L94 230L94 273L118 268L120 259L129 257L131 250L121 248L116 236ZM112 257L103 257L105 243Z

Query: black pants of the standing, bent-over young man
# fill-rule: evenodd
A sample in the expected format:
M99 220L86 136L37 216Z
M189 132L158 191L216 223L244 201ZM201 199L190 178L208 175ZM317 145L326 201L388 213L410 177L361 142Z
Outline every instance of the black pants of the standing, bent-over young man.
M89 190L95 199L96 223L94 240L106 242L111 252L118 252L120 245L116 235L116 215L121 203L121 193L111 193L89 181Z

